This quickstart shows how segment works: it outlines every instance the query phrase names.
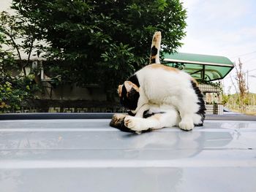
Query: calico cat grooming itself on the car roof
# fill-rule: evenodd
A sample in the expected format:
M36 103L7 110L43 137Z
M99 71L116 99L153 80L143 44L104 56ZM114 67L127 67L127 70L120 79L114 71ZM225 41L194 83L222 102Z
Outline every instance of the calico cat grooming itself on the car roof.
M157 31L152 40L150 64L118 86L121 104L130 114L122 116L124 126L133 131L177 124L188 131L203 126L206 107L197 82L186 72L159 64L160 42L161 32ZM143 118L147 111L153 115ZM165 117L169 122L163 120Z

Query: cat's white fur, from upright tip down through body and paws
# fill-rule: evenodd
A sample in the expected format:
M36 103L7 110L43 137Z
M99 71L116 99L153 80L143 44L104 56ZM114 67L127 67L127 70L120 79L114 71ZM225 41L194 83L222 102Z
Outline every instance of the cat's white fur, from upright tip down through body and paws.
M157 31L151 45L157 47L157 64L145 66L135 73L140 82L138 107L132 111L135 117L127 116L124 123L133 131L175 126L177 123L181 129L191 130L194 124L203 123L196 113L200 106L192 88L193 79L186 72L159 64L160 42L161 33ZM157 118L155 115L143 118L146 110L162 110L165 113L158 114Z

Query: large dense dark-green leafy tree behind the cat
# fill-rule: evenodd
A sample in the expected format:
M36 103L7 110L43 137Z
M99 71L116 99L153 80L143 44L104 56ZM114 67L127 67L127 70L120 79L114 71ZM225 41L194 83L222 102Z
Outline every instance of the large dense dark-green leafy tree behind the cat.
M12 8L36 26L35 38L50 43L48 58L56 62L49 67L61 80L96 82L110 93L148 64L155 31L169 53L185 36L186 10L178 0L13 0Z

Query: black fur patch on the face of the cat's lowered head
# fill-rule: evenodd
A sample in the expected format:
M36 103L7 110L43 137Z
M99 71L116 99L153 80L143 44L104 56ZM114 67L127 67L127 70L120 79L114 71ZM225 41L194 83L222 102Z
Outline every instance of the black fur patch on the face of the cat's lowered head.
M127 93L127 89L123 85L120 97L120 103L122 106L124 106L128 110L136 110L136 108L138 107L139 97L140 93L138 91L132 88L131 91Z

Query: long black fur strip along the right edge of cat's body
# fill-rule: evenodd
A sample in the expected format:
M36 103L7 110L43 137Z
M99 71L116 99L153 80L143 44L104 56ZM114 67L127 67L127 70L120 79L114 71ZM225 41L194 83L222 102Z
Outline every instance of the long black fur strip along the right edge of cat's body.
M191 84L199 100L197 102L197 104L199 105L199 110L196 113L201 116L201 120L203 122L203 120L206 118L206 104L205 101L203 101L203 94L194 81L191 81ZM203 126L203 123L196 124L195 126Z

